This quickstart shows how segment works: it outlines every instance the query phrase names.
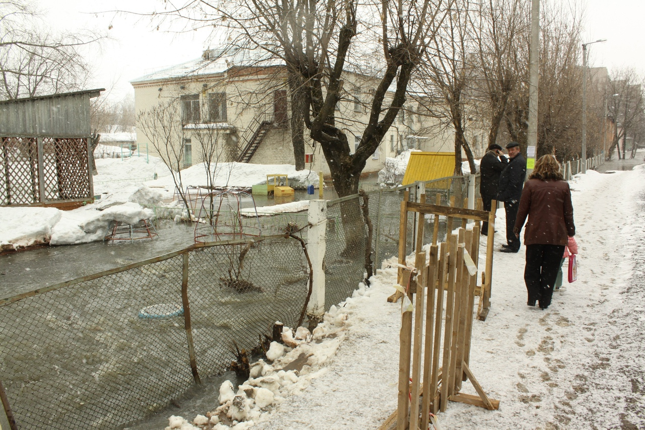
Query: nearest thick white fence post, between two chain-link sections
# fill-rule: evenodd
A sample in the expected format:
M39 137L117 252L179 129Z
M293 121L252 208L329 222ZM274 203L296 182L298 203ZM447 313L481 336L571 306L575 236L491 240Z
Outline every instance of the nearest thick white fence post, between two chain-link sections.
M307 252L312 262L312 297L307 304L310 329L315 327L324 315L324 270L323 260L326 249L327 200L310 200L308 213Z

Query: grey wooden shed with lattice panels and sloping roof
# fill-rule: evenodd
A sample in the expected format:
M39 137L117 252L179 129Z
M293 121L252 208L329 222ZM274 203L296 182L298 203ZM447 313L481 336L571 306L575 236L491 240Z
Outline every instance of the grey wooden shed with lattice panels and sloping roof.
M90 99L101 91L0 101L0 206L94 200Z

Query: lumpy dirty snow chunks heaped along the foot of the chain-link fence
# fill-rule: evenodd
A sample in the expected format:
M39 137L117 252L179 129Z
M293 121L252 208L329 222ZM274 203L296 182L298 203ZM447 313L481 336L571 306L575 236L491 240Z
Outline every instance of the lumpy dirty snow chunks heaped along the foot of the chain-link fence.
M366 289L361 284L359 290L357 298L348 298L347 302L360 300ZM250 378L237 391L232 382L224 381L219 389L221 406L205 414L208 421L201 418L204 415L197 415L193 424L199 427L195 427L182 417L170 416L166 430L245 430L267 420L285 398L303 393L313 379L325 373L325 366L346 338L348 327L348 309L336 306L324 315L313 333L298 327L294 334L292 329L283 327L283 343L271 342L266 353L270 363L259 360L251 364ZM213 427L204 427L209 424Z

